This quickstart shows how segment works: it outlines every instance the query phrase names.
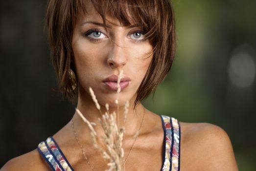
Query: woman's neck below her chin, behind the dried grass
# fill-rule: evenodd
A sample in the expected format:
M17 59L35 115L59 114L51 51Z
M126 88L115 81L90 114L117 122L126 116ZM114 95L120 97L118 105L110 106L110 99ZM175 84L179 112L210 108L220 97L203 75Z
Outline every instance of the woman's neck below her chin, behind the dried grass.
M88 98L87 98L88 99ZM130 102L133 104L134 102ZM89 121L96 124L93 126L94 130L97 133L98 137L104 134L104 130L100 125L98 118L102 118L102 114L104 114L107 110L104 106L100 106L100 111L95 107L93 101L83 101L78 98L77 108L81 111L83 116ZM132 137L140 128L143 115L145 112L145 108L139 103L135 108L133 105L128 107L128 113L126 115L126 119L124 121L124 106L121 107L109 107L109 113L116 112L116 123L117 127L125 127L125 137ZM74 127L78 133L79 138L82 141L88 141L88 136L90 135L90 129L88 125L84 123L82 118L78 115L77 111L73 116ZM83 136L84 135L84 136ZM87 139L87 140L86 140Z

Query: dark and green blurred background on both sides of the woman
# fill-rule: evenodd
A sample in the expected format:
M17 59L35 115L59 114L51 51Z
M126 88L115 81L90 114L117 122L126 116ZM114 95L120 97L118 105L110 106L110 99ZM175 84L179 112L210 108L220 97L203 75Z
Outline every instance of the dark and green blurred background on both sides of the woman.
M256 0L173 0L177 55L150 110L229 134L241 171L256 170ZM43 32L45 0L0 2L0 167L69 122Z

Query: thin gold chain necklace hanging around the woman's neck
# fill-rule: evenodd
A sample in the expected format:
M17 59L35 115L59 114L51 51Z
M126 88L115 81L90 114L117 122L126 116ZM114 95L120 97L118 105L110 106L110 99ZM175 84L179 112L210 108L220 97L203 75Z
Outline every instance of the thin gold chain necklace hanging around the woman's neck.
M144 109L144 108L143 108L143 109ZM142 117L142 121L141 121L141 123L140 123L140 128L141 128L142 123L143 123L143 121L144 121L144 115L145 115L145 109L143 110L143 117ZM76 133L75 128L74 128L73 118L72 118L71 122L72 122L72 128L73 128L73 132L74 132L75 139L76 139L77 143L79 144L79 146L80 146L80 148L81 148L81 150L82 150L82 153L83 153L83 155L84 155L85 160L87 161L87 163L88 163L88 165L91 167L91 169L94 171L93 166L92 166L91 163L89 162L89 160L88 160L88 158L87 158L87 156L86 156L86 154L85 154L84 148L83 148L83 146L81 145L81 143L80 143L80 141L79 141L79 139L78 139L77 133ZM139 130L138 130L138 131L139 131L139 134L140 134L140 128L139 128ZM139 136L139 134L138 134L138 136ZM126 163L128 157L129 157L131 151L133 150L133 146L134 146L135 141L136 141L136 139L137 139L138 136L135 137L135 140L134 140L134 142L133 142L133 144L132 144L132 147L131 147L130 151L128 152L128 155L127 155L127 157L126 157L126 159L125 159L125 161L124 161L124 163L123 163L123 165L122 165L121 168L124 167L124 165L125 165L125 163Z

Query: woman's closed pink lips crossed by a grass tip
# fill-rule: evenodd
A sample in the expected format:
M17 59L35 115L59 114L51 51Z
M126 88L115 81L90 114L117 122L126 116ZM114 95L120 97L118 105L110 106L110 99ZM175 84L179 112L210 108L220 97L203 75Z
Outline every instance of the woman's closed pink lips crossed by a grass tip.
M117 90L117 75L111 75L110 77L107 77L103 80L103 84L106 85L111 90ZM120 88L121 90L125 87L127 87L130 83L131 79L129 77L122 77L120 80Z

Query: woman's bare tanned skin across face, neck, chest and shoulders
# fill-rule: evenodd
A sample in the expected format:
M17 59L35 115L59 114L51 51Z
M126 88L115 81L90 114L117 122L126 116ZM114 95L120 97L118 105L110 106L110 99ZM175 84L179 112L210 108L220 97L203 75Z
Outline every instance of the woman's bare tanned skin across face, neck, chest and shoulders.
M144 39L143 30L135 26L123 26L120 21L107 17L107 29L103 21L87 3L87 14L80 14L74 25L72 50L78 81L77 108L90 121L97 124L98 137L103 130L98 123L100 117L89 93L93 88L96 98L104 112L104 105L110 105L110 111L116 111L116 98L120 112L117 122L124 126L124 158L127 157L139 129L143 113L145 117L133 150L125 163L126 171L160 171L163 158L164 132L159 115L145 109L140 103L134 109L138 87L152 60L152 45ZM117 97L116 90L104 82L110 76L123 77L128 85L121 89ZM111 80L110 80L111 81ZM115 84L115 83L111 83ZM125 101L130 102L126 122L123 123ZM86 156L95 171L104 171L108 167L101 154L93 149L90 130L77 113L73 116L74 127ZM232 145L226 132L206 123L180 123L181 125L181 171L237 171ZM54 139L75 171L91 171L77 144L71 121L56 134ZM46 161L37 150L16 157L6 163L0 171L50 171Z

